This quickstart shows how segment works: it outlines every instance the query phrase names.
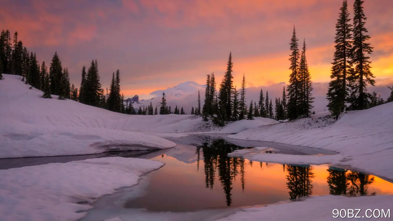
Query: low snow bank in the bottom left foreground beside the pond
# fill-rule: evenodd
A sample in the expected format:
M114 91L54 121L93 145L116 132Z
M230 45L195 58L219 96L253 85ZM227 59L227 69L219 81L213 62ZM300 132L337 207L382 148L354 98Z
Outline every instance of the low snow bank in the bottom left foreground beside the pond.
M98 197L138 183L162 167L152 160L107 157L0 170L1 220L75 221Z

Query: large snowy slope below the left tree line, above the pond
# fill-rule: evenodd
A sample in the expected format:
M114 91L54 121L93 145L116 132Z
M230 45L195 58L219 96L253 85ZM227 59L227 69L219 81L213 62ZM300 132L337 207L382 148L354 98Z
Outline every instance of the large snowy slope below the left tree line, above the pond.
M29 85L20 81L21 76L4 78L0 81L0 158L163 149L176 145L156 136L130 132L141 122L133 122L129 115L72 100L57 100L56 96L44 99L41 91L29 89Z

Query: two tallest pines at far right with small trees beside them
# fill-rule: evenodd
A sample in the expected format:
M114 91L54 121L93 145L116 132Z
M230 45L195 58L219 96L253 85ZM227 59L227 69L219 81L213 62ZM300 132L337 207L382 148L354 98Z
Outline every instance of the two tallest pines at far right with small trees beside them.
M343 0L339 18L336 23L331 81L327 92L327 105L333 116L345 110L363 110L393 101L393 88L389 98L384 101L375 92L367 92L368 85L375 85L375 77L371 73L371 61L368 56L373 47L366 41L365 23L367 18L363 11L363 0L355 0L353 4L353 24L349 18L348 2Z

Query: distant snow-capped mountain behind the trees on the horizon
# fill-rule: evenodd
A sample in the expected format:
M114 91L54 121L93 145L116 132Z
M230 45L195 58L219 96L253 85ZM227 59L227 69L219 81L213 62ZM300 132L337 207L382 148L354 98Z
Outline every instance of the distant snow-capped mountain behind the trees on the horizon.
M186 81L184 83L180 83L174 87L167 88L165 90L156 90L150 93L152 95L151 99L141 99L139 100L138 95L135 95L133 98L128 98L127 100L132 102L134 108L139 108L139 106L150 105L152 102L153 107L161 106L161 98L162 93L165 93L165 97L167 99L168 106L172 107L174 110L177 105L179 108L183 107L184 111L188 114L191 113L191 108L197 103L198 99L198 90L200 91L200 96L203 101L204 99L204 91L206 85L200 85L195 83L194 81ZM124 101L127 101L124 100Z

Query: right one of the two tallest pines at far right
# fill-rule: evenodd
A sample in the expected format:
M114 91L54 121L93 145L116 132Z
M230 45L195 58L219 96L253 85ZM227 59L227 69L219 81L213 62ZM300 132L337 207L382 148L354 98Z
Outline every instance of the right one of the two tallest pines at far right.
M363 12L363 0L355 0L353 4L353 48L351 50L352 62L354 70L349 77L349 85L351 87L351 95L349 102L351 109L363 110L369 106L369 96L367 85L375 85L373 73L371 73L370 57L366 54L373 52L370 43L365 43L371 37L367 35L367 29L364 27L367 18Z

